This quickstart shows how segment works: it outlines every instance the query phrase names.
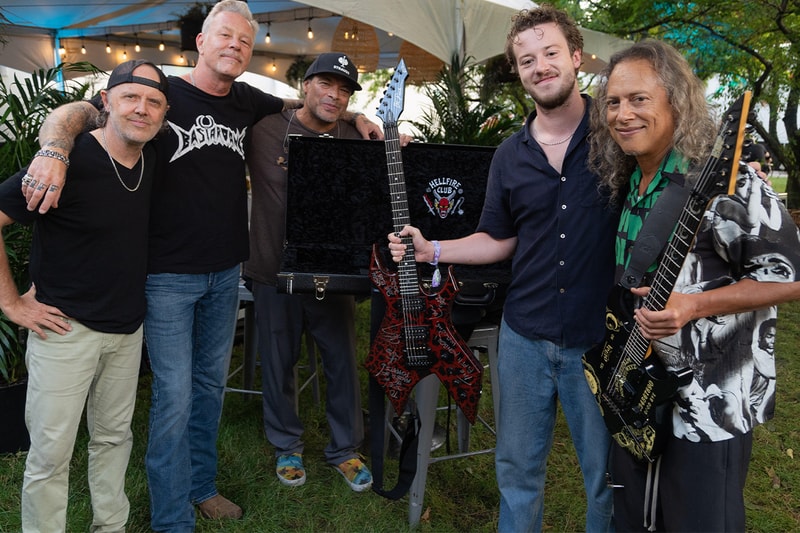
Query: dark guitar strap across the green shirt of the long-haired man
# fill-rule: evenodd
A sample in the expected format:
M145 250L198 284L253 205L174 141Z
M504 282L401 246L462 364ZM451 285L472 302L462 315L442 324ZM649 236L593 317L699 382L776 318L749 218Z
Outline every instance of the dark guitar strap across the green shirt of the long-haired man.
M619 284L626 289L638 287L642 283L647 270L666 246L678 216L692 192L692 188L686 186L684 174L664 171L662 174L669 178L669 182L650 208L631 249L628 268L620 277Z

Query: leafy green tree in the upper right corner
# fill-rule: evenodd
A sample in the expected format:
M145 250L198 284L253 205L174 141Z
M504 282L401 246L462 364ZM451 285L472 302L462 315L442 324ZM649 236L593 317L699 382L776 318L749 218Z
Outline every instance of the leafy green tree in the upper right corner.
M745 90L768 111L751 124L788 173L788 206L800 208L800 3L798 0L566 0L554 2L579 24L633 41L655 38L684 53L704 80L716 76L716 96ZM778 136L782 123L787 142Z

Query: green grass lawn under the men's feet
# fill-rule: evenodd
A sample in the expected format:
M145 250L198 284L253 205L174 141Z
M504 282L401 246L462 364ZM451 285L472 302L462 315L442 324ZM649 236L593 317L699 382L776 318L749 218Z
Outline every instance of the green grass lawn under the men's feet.
M359 350L366 352L368 309L359 307ZM751 532L784 532L800 529L800 302L782 306L778 325L778 402L776 418L755 431L755 445L745 491L747 528ZM238 350L237 350L238 352ZM363 373L363 372L362 372ZM240 386L240 378L234 378ZM148 531L149 511L144 474L147 438L149 377L142 378L133 423L136 438L128 469L127 492L131 500L128 531ZM488 379L481 415L491 421ZM324 390L323 390L324 392ZM366 390L364 392L366 404ZM389 501L368 492L350 491L339 475L326 466L322 449L327 442L324 409L314 404L309 391L301 397L306 425L305 463L308 481L302 487L280 485L274 474L273 452L261 430L260 398L230 393L220 428L220 491L241 504L245 517L237 522L198 520L204 532L395 532L407 531L408 498ZM440 414L440 423L445 422ZM91 507L86 484L86 433L78 437L71 464L68 531L86 531ZM454 432L451 438L455 441ZM491 433L476 427L473 446L492 446ZM436 452L437 455L444 450ZM0 531L20 530L19 492L25 454L0 456ZM388 486L396 463L387 464ZM442 461L428 469L422 532L489 532L497 529L498 494L493 455ZM583 488L563 418L559 417L548 467L544 529L580 531L585 502Z

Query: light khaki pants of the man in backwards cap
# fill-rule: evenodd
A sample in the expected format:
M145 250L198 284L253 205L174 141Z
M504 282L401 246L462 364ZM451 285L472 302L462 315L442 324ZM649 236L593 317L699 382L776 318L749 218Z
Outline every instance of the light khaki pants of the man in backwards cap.
M130 335L100 333L76 321L72 331L28 337L25 421L31 448L22 483L22 529L66 530L69 463L86 405L89 429L91 531L124 531L142 328Z

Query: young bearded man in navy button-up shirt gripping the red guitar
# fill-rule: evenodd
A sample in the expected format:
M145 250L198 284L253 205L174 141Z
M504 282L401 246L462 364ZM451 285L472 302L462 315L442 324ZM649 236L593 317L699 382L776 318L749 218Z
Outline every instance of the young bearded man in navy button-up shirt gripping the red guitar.
M616 211L587 169L591 100L577 84L583 38L550 6L520 12L506 41L536 110L494 156L478 231L426 240L417 228L417 261L488 264L512 258L503 308L498 374L500 415L495 464L498 529L541 531L545 468L561 407L578 454L587 497L586 531L606 531L610 437L586 385L582 354L603 338L603 308L613 278ZM400 261L405 245L389 236Z

